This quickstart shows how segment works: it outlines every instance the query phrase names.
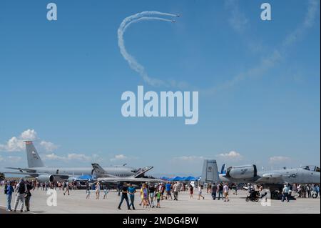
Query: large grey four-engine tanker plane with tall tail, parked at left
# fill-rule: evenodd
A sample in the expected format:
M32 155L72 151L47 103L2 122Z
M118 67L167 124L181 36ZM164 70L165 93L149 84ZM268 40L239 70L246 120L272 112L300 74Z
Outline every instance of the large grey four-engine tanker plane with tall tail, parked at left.
M6 169L15 169L19 172L4 172L4 174L19 174L26 177L34 177L38 179L39 182L55 182L68 180L73 181L79 176L83 175L99 175L95 174L92 167L45 167L44 162L41 161L39 154L34 147L32 141L25 141L26 143L26 156L28 160L28 168L16 168L16 167L6 167ZM131 167L123 166L111 166L103 168L108 174L115 177L131 177L135 175L136 177L143 176L148 170L153 169L153 167L144 167L142 169L134 169Z

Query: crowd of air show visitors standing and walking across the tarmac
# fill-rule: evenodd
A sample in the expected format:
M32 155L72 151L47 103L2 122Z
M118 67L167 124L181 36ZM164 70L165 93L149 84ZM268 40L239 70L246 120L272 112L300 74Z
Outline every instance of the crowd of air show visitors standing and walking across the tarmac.
M20 212L29 212L31 191L48 189L59 189L64 195L69 195L70 190L78 189L80 184L78 182L38 182L37 180L29 181L21 178L19 181L1 181L0 185L4 186L4 194L6 194L7 206L6 210L16 212L17 209ZM135 194L139 192L140 199L138 205L143 208L160 208L162 200L178 201L180 192L188 192L189 198L194 199L194 191L197 191L197 199L205 199L203 196L203 189L206 189L206 193L210 194L213 200L223 199L224 202L229 202L229 192L233 191L233 194L238 194L237 184L218 183L218 184L206 184L204 187L201 184L192 184L186 182L163 182L158 184L143 183L140 189L137 189L133 184L123 183L118 185L118 196L121 197L121 201L118 204L118 209L121 209L123 202L126 202L127 209L135 208ZM106 186L102 186L101 183L86 183L86 199L90 199L91 192L94 191L96 199L100 199L101 192L103 192L103 199L107 199L109 190ZM258 192L263 197L263 186L257 184L248 184L248 192ZM318 197L320 193L320 184L285 184L280 192L282 202L289 202L293 194L297 194L298 197L311 198ZM14 200L14 207L11 207L11 201L13 194L16 195ZM266 193L265 193L266 194Z

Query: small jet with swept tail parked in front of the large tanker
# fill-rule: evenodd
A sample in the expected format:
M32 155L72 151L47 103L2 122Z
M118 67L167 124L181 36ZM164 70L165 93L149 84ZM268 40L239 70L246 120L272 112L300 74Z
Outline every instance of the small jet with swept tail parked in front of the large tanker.
M98 178L95 179L96 182L163 182L161 179L152 179L152 178L141 178L140 174L134 174L131 177L117 177L111 174L108 174L105 169L103 169L99 164L93 163L93 170L98 174Z

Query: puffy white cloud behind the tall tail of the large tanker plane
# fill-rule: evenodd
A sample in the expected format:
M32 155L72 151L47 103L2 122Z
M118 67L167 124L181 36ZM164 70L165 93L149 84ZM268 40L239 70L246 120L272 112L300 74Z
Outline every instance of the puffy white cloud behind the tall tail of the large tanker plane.
M37 132L34 129L27 129L19 137L11 137L5 144L0 144L0 152L23 152L25 150L25 140L37 140ZM39 144L45 152L52 152L57 146L52 142L42 140Z

